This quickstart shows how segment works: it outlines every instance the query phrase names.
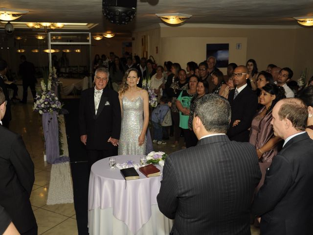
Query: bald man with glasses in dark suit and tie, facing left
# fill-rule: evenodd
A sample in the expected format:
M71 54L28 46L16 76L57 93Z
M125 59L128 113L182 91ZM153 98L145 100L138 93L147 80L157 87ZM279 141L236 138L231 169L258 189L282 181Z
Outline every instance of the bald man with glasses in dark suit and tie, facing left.
M258 106L258 97L246 84L249 78L246 66L238 66L232 74L236 89L229 92L228 101L231 106L231 121L227 136L231 141L248 142L252 119ZM236 120L239 123L236 124ZM235 123L234 123L235 122Z

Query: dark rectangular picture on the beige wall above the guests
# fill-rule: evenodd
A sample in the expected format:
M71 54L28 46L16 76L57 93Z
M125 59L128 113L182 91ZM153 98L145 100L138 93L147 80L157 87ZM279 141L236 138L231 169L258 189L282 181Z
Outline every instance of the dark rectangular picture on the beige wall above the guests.
M229 44L206 44L206 58L214 56L216 58L217 68L227 68L229 57Z

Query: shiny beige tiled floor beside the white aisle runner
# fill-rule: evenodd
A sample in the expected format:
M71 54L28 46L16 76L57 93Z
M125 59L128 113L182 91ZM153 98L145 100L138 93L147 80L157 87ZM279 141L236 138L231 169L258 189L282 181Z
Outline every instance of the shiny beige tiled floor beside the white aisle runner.
M22 135L26 148L35 164L35 183L30 196L31 205L38 224L38 234L44 235L77 235L76 216L73 204L46 205L49 188L51 164L44 162L44 140L41 116L33 112L32 104L12 105L10 130ZM173 141L166 145L154 144L155 151L171 153L181 149L171 147ZM251 226L251 234L259 235L259 230Z

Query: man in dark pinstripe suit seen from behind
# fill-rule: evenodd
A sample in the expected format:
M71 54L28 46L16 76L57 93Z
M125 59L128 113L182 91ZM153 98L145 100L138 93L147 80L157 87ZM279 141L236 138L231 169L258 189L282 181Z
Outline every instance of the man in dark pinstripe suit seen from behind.
M169 155L157 195L160 211L174 219L174 235L250 235L250 206L261 179L255 148L229 141L227 100L216 94L197 102L197 146Z

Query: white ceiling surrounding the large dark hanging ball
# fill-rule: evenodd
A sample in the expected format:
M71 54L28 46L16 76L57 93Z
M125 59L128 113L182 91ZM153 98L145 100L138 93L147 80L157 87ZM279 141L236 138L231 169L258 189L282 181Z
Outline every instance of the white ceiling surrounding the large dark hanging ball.
M138 0L127 25L110 24L102 0L1 0L0 7L29 11L23 22L97 23L94 33L131 33L161 23L156 13L192 15L185 24L297 25L292 17L313 16L313 0Z

